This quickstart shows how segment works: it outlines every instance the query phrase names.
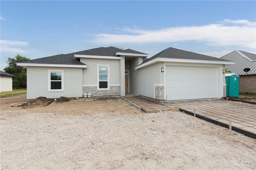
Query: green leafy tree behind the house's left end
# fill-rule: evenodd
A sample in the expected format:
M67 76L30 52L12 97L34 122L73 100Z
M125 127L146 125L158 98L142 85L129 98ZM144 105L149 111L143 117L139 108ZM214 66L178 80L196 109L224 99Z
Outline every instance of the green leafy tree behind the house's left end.
M8 57L6 61L8 66L4 68L4 71L16 76L13 78L14 89L27 88L27 68L17 66L16 64L27 60L30 60L30 58L17 54L14 58Z

